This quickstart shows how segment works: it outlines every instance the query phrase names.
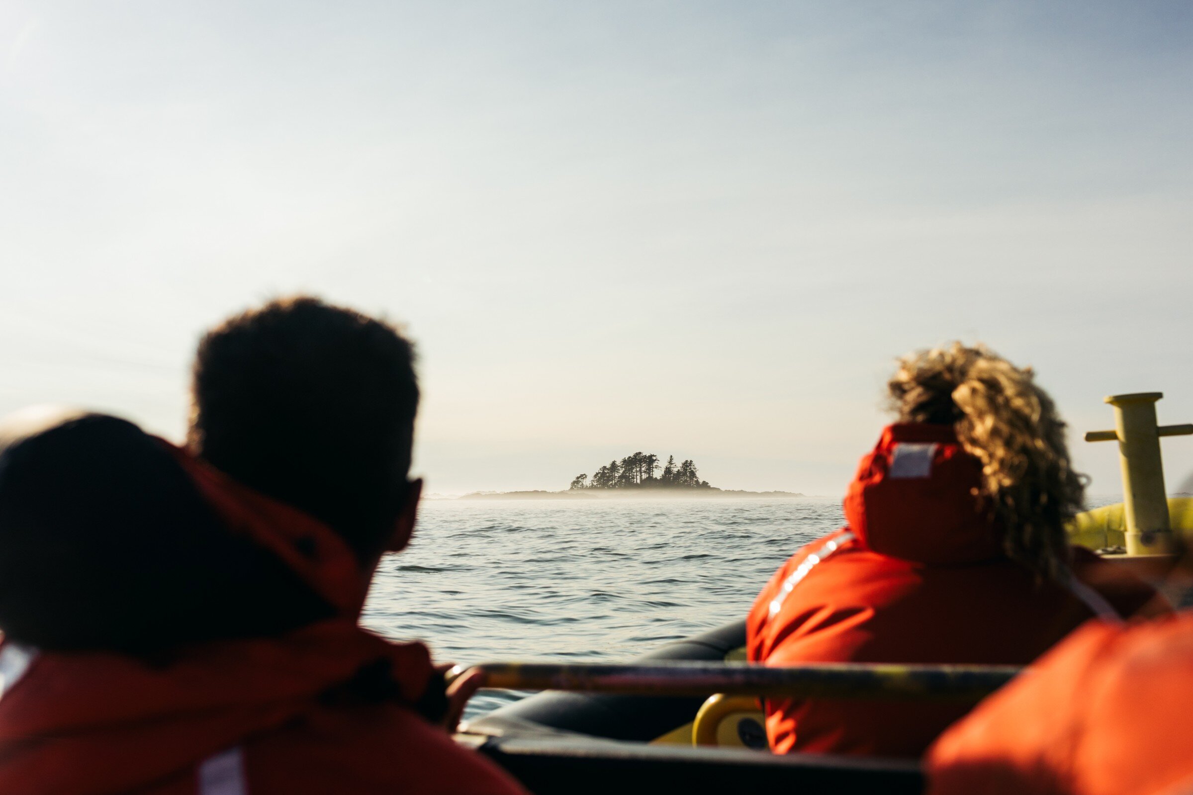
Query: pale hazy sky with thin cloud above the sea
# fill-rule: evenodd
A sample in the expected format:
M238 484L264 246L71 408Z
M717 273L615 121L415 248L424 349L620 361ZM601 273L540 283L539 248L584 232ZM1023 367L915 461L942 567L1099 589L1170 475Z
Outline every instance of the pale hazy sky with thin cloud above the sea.
M432 492L837 495L958 339L1113 495L1105 396L1193 422L1189 86L1185 0L6 0L0 412L177 439L203 329L314 292L418 342Z

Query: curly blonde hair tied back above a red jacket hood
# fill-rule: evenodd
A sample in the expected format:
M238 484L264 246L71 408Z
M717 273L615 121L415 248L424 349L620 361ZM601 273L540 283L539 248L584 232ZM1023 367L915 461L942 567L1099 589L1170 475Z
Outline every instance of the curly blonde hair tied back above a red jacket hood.
M1062 579L1064 527L1081 511L1086 477L1073 471L1065 423L1031 367L953 342L898 360L888 383L900 422L951 424L982 462L979 496L1003 532L1007 555L1038 577Z

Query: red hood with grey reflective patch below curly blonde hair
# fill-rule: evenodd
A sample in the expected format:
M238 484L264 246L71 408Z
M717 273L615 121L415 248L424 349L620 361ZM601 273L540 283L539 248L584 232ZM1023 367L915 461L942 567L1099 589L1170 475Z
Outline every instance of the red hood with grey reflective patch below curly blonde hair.
M845 497L861 546L925 564L1001 557L1001 533L979 497L982 465L950 426L888 426Z

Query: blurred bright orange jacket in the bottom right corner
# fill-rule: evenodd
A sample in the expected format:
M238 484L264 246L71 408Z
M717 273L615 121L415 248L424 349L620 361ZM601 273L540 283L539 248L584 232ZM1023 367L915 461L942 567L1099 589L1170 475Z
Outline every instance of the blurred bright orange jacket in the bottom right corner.
M1193 615L1090 622L928 751L932 795L1193 793Z

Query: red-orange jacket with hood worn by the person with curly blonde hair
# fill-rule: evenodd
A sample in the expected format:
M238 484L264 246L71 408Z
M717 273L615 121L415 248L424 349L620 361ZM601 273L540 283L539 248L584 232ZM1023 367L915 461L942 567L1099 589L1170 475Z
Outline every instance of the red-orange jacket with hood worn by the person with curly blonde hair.
M951 427L886 428L849 485L848 526L803 547L759 594L749 659L1026 664L1095 613L1154 598L1092 553L1076 553L1067 586L1037 583L1003 554L979 477ZM766 713L777 752L914 757L965 707L775 698Z

